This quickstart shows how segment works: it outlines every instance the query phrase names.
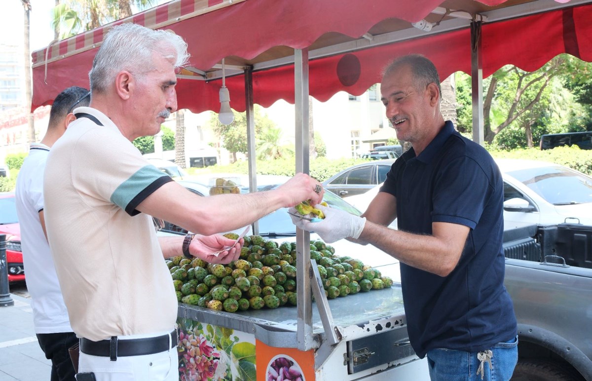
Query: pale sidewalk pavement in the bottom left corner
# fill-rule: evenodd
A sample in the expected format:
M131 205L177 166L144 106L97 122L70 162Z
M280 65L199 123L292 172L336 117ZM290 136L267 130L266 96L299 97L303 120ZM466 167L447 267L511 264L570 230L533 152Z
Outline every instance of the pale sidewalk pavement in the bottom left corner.
M49 381L52 362L39 348L31 299L10 296L14 306L0 307L0 381Z

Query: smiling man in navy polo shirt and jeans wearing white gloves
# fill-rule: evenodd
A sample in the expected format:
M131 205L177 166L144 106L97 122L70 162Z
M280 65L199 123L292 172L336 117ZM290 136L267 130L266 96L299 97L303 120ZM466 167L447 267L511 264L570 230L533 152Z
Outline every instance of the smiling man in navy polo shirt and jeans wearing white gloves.
M440 113L440 80L426 57L386 69L382 102L397 137L412 147L392 165L362 217L320 207L298 221L326 242L355 239L401 262L407 330L433 380L509 380L516 317L503 285L503 182L484 148ZM387 226L398 217L398 229Z

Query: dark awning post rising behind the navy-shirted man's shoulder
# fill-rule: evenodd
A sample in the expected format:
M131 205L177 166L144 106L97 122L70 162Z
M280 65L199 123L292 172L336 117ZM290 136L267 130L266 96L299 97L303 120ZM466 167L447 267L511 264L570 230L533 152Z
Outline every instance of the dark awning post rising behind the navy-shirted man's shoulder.
M473 141L483 145L483 63L481 62L481 21L471 23L471 98L473 104Z

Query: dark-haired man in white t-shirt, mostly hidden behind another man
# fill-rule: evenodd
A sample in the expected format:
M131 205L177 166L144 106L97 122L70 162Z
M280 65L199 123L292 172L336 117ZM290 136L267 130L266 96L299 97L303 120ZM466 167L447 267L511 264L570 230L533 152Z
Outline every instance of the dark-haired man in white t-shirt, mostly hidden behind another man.
M40 143L32 143L17 177L15 193L21 228L22 257L27 268L27 289L31 295L33 323L41 350L52 360L51 381L74 381L68 348L78 338L68 319L60 291L52 253L47 244L43 215L43 173L53 143L75 120L73 107L90 102L88 89L70 87L57 95L49 116L47 133Z

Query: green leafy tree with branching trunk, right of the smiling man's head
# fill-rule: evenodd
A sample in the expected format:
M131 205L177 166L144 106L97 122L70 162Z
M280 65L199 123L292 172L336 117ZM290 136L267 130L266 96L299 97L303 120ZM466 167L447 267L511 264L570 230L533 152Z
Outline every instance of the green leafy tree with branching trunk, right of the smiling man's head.
M565 83L580 86L585 94L588 66L572 56L559 55L535 72L507 65L484 79L485 141L511 149L538 146L545 133L585 130L590 113ZM580 72L584 75L572 74ZM464 73L456 73L456 100L458 129L471 133L471 77Z

